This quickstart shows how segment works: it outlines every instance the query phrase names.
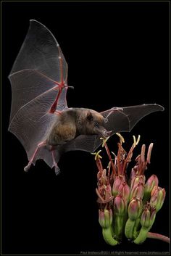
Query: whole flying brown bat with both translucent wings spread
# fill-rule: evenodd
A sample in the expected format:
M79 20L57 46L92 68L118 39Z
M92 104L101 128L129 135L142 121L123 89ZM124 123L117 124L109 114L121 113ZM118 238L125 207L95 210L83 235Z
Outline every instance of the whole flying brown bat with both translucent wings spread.
M12 106L9 131L24 146L30 165L42 159L59 173L64 152L95 152L100 137L131 131L141 118L162 111L158 104L112 107L104 112L67 107L67 62L56 38L46 26L30 20L30 26L9 80Z

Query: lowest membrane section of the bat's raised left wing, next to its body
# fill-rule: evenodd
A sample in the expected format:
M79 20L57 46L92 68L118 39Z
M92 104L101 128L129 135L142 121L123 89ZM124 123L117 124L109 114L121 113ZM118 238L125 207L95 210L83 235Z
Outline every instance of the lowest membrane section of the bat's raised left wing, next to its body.
M52 123L57 119L57 115L49 113L51 104L56 97L57 90L55 88L46 91L36 99L23 104L16 115L12 117L9 131L14 133L25 147L28 159L35 151L36 146L46 138Z

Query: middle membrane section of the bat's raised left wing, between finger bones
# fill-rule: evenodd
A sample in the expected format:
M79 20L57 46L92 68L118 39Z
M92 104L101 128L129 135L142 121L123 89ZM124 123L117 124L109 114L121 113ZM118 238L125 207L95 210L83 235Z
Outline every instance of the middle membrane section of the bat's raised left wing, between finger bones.
M12 84L12 110L10 116L10 124L14 118L14 115L18 115L20 110L24 108L27 111L29 104L34 104L44 94L48 94L49 91L56 88L56 96L58 94L57 84L42 75L37 70L22 70L12 75L9 75L9 80ZM44 102L46 104L46 102ZM38 109L37 105L37 109ZM49 106L50 108L51 106ZM34 117L35 109L32 112ZM48 110L46 110L48 111ZM9 125L10 126L10 125Z

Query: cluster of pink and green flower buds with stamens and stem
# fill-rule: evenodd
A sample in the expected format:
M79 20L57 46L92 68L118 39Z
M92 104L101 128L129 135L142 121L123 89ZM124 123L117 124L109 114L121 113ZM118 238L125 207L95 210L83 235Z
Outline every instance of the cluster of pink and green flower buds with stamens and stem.
M109 157L109 165L105 169L101 162L99 152L95 154L97 173L97 188L99 204L99 223L102 234L107 244L116 245L125 236L135 244L141 244L147 237L162 239L170 242L166 236L150 233L157 212L161 209L165 189L158 186L159 180L154 174L148 178L144 175L147 165L150 163L153 144L149 145L145 157L146 146L141 147L141 154L135 158L135 166L132 168L130 178L127 175L128 164L133 156L133 149L138 144L140 136L135 139L130 151L125 152L122 144L125 142L120 133L117 154L109 152L107 139L103 139L102 147L106 149Z

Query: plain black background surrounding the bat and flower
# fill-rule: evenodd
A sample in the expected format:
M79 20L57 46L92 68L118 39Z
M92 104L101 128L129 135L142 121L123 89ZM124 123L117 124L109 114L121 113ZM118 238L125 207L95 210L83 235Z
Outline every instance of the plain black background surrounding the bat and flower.
M151 231L169 232L169 2L3 2L2 3L2 252L167 252L169 245L147 239L142 245L104 242L96 204L96 165L91 154L68 152L55 176L44 162L28 173L25 150L7 131L11 88L7 76L28 30L29 20L46 25L69 65L69 107L97 111L143 103L162 104L123 134L128 150L141 134L141 149L154 142L146 176L159 177L167 191ZM116 152L117 136L110 139ZM134 162L133 162L134 163Z

